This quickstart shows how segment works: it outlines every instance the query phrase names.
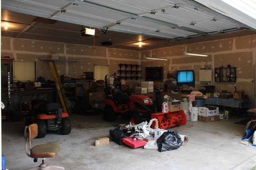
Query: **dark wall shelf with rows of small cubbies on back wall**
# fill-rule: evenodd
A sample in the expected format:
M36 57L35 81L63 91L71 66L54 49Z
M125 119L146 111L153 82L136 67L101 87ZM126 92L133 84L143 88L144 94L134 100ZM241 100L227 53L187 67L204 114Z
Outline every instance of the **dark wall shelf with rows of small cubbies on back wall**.
M141 78L140 76L140 65L138 64L118 64L121 79L125 80L138 80Z

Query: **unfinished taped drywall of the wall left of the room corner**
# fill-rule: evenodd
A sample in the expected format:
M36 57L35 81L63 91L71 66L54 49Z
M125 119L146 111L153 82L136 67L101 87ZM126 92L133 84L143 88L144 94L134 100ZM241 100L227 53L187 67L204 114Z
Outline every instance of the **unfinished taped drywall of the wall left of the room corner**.
M71 78L82 78L83 72L94 72L94 64L109 65L109 72L118 73L118 64L139 64L137 51L110 49L86 45L34 41L28 39L14 39L1 37L1 56L9 56L15 61L34 61L36 63L36 79L39 76L46 80L53 79L47 60L52 54L57 53L59 59L76 60L56 61L59 75L70 75ZM26 71L24 69L24 71ZM106 74L108 74L106 73ZM128 84L138 84L130 81ZM132 86L131 86L132 87Z

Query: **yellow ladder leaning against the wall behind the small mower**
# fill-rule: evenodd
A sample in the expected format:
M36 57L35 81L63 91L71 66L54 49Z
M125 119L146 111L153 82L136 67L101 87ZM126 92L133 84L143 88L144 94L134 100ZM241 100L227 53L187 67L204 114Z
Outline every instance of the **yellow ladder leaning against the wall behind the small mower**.
M62 87L62 84L60 82L60 76L58 75L58 70L56 68L56 65L54 61L49 61L50 68L52 70L52 76L54 78L54 82L57 88L58 96L60 98L60 103L62 105L63 111L66 113L71 113L68 107L68 100L65 95L65 90Z

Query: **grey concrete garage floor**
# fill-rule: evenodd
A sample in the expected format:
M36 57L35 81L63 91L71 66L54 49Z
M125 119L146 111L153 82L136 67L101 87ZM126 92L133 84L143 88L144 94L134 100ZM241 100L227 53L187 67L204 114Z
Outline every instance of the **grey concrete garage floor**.
M46 158L49 165L55 164L65 170L250 170L256 166L256 147L240 143L245 125L234 124L245 119L230 118L218 122L188 121L174 127L180 135L188 135L189 143L179 149L165 152L133 149L118 145L110 138L109 145L94 146L96 139L110 137L109 130L119 123L106 122L102 115L70 115L72 131L60 135L49 131L46 137L34 139L33 144L58 143L60 152L55 158ZM6 156L6 168L25 170L38 166L24 150L24 121L2 121L2 154Z

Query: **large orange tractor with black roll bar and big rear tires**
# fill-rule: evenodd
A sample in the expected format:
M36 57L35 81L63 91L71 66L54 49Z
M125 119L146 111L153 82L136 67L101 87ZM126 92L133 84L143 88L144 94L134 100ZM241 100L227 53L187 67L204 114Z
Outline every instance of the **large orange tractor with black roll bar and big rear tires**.
M119 115L129 118L132 125L151 119L151 114L154 113L151 98L143 95L130 95L132 89L123 91L118 74L107 74L105 83L103 117L106 121L114 121Z

